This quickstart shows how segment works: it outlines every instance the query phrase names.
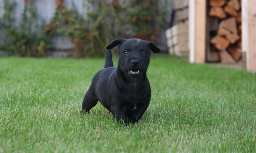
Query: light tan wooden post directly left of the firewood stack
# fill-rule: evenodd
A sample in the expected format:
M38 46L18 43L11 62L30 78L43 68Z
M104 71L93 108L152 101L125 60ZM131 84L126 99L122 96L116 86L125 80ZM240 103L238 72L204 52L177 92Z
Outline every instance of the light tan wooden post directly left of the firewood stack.
M205 63L206 58L206 1L196 0L195 62Z

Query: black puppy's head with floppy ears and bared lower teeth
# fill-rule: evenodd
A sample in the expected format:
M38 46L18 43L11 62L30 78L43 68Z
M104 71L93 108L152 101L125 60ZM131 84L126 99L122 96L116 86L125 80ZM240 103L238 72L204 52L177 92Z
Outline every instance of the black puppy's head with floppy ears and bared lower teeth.
M145 74L149 64L150 50L158 53L161 50L151 41L140 39L117 39L112 41L106 48L118 49L118 67L129 77L137 78Z

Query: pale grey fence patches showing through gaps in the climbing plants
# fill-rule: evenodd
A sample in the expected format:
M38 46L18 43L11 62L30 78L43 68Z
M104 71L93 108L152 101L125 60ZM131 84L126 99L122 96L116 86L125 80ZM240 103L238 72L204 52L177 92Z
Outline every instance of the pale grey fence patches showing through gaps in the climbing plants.
M21 21L21 16L22 16L22 12L24 9L24 0L10 0L10 1L16 1L16 7L15 7L15 11L14 11L14 19L15 19L15 25L19 25L20 21ZM55 0L34 0L35 1L35 5L36 5L36 9L37 9L37 15L39 16L37 23L41 23L43 20L46 21L46 23L49 23L54 11L55 11L55 7L56 7L56 1ZM108 3L112 2L113 0L106 0ZM123 3L124 0L121 0L120 3ZM165 0L160 0L162 2L164 2ZM75 4L75 7L77 9L77 11L84 16L84 18L86 18L86 0L65 0L65 6L67 6L68 8L72 7L72 3ZM167 22L170 22L170 15L172 12L172 0L169 0L169 7L168 7L168 14L166 15L166 20ZM4 5L4 0L0 0L0 16L3 15L4 10L3 10L3 5ZM1 33L0 33L1 34ZM164 31L161 34L161 42L162 43L162 47L161 48L167 48L166 46L166 40L165 40L165 35L164 35ZM1 37L1 36L0 36ZM1 41L1 40L0 40ZM72 42L68 39L68 37L55 37L52 39L52 46L53 47L57 47L58 49L69 49L72 48ZM1 43L1 42L0 42Z

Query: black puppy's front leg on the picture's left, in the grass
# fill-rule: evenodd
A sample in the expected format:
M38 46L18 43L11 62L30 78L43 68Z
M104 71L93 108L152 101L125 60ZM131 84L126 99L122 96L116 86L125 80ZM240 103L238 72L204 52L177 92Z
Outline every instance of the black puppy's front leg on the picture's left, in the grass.
M116 118L117 121L124 121L124 124L128 124L127 116L124 112L124 108L122 106L112 106L111 113Z

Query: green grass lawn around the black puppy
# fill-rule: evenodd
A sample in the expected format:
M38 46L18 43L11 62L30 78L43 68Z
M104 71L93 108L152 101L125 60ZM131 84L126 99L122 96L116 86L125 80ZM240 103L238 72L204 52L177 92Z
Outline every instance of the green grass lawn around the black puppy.
M125 127L100 103L79 113L103 65L0 58L0 152L256 152L254 74L151 57L148 110Z

